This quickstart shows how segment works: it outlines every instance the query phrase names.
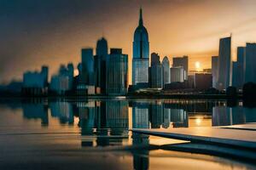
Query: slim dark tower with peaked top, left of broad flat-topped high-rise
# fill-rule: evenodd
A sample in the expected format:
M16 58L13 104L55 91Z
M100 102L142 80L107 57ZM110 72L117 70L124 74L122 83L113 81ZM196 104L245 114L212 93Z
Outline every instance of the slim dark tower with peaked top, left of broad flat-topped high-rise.
M106 61L108 58L108 42L102 37L96 44L95 85L100 88L101 94L106 94Z

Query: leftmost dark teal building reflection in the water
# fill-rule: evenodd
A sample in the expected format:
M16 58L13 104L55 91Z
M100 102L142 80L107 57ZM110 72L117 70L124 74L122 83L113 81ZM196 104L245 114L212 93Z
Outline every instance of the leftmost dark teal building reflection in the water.
M23 116L26 119L41 119L42 126L48 126L47 107L42 104L22 104Z

